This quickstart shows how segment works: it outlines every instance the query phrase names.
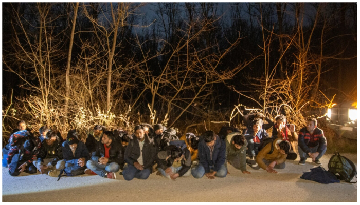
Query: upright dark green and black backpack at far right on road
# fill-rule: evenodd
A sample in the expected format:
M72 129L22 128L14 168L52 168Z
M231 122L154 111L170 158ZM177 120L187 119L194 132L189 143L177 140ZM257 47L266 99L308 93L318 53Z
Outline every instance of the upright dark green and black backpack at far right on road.
M354 163L350 159L341 156L340 153L335 154L330 158L328 163L329 172L333 173L339 180L350 182L355 176L357 178L357 171Z

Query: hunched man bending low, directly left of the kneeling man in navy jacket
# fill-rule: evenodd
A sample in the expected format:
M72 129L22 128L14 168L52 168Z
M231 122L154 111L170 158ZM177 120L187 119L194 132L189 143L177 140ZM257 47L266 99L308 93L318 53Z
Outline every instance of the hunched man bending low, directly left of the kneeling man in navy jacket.
M184 144L185 145L185 144ZM191 155L186 145L183 149L169 145L156 155L157 169L169 179L190 176Z

